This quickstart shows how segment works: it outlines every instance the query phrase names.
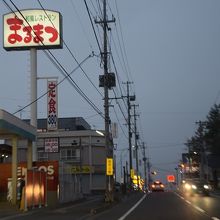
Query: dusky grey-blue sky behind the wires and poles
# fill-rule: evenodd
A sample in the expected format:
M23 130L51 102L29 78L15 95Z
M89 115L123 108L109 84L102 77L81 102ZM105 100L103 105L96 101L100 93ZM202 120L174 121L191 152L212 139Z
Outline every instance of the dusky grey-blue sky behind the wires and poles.
M6 1L11 5L9 0ZM36 0L13 2L19 9L40 8ZM98 18L97 1L87 2L92 16ZM92 51L99 53L82 0L41 0L41 3L44 8L60 11L63 15L64 41L79 62ZM147 143L152 166L158 170L161 178L174 172L185 149L183 143L194 134L195 122L205 120L213 104L220 101L219 11L219 0L108 1L109 18L111 13L116 18L116 23L110 25L112 35L109 35L109 41L120 83L128 80L134 82L131 94L136 94L136 104L139 104L138 130L141 141ZM1 16L8 12L10 10L1 1ZM101 43L102 30L95 28ZM1 42L2 30L0 22ZM121 53L123 45L126 54ZM65 47L52 52L68 72L77 66ZM0 54L0 108L14 113L30 101L29 52L6 52L1 47ZM83 69L98 88L98 76L103 73L100 59L90 58L83 64ZM112 64L111 69L114 70ZM63 79L44 52L38 51L38 76L45 75ZM102 97L82 71L76 71L72 77L103 112ZM121 87L126 91L124 84ZM39 81L38 96L45 89L46 82ZM96 129L104 128L102 118L75 92L68 81L62 83L58 91L59 117L82 116ZM99 91L103 93L102 88ZM114 97L112 92L110 96ZM117 104L114 101L112 104L127 135L125 120ZM121 105L126 114L122 102ZM25 109L21 113L22 118L28 118L29 111L29 108ZM110 109L110 116L113 122L117 122L113 108ZM46 117L46 98L38 102L38 117ZM120 126L119 133L119 138L115 140L118 149L128 148ZM118 158L122 155L127 159L128 152L118 151L117 155ZM117 164L120 164L119 161Z

